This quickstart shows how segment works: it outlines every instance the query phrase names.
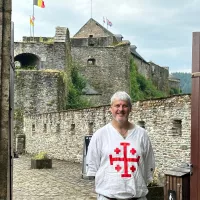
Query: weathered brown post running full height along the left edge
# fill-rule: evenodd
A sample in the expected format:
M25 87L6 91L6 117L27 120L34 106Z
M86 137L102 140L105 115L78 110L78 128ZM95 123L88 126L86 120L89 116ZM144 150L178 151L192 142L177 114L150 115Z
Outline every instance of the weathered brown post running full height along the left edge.
M0 3L0 199L11 199L9 169L9 81L11 61L11 0Z

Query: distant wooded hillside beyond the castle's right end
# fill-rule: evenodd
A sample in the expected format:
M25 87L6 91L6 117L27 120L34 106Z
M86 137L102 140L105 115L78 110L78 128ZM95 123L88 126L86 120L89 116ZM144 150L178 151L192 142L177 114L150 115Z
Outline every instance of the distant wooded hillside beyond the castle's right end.
M191 73L175 72L171 73L175 78L180 79L182 94L189 94L192 91Z

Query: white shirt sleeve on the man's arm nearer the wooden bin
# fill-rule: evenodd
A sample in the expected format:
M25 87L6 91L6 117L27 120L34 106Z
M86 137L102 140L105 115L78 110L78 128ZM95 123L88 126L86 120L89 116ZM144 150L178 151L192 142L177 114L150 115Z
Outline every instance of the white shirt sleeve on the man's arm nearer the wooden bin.
M153 181L153 173L155 171L155 157L151 141L146 132L144 138L144 148L145 148L145 157L144 157L144 166L146 172L146 183L147 185Z

